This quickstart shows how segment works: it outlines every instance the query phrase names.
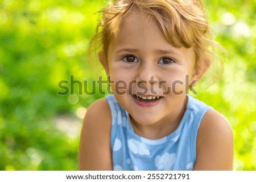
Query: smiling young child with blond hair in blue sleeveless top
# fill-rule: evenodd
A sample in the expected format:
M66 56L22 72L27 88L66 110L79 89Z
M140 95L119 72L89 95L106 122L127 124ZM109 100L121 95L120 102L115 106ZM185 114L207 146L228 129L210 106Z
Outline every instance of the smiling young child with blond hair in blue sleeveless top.
M228 121L186 94L216 64L202 2L116 0L102 14L90 46L113 95L86 113L80 170L232 170Z

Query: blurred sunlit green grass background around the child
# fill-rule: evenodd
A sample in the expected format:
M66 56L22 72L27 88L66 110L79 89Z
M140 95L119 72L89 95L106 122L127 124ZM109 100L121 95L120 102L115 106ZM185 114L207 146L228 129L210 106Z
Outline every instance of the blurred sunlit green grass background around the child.
M195 90L234 130L234 170L256 170L256 1L205 0L224 75ZM78 170L86 108L104 96L57 95L61 80L95 79L85 50L106 2L0 1L0 170ZM90 90L92 86L89 85Z

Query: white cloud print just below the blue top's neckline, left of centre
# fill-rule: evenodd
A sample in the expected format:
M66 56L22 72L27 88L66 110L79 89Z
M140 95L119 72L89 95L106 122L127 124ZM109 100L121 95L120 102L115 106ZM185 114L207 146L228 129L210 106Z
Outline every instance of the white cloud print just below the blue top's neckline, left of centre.
M128 140L128 147L129 150L134 154L150 155L150 151L147 149L147 145L135 139Z

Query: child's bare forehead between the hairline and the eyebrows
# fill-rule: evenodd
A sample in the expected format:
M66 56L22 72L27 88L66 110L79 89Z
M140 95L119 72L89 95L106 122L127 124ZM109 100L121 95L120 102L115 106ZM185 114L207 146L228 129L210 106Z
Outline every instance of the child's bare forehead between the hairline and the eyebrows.
M193 57L192 49L176 48L164 37L157 21L145 12L134 10L123 19L117 36L110 41L110 53L182 54ZM110 54L111 54L110 53Z

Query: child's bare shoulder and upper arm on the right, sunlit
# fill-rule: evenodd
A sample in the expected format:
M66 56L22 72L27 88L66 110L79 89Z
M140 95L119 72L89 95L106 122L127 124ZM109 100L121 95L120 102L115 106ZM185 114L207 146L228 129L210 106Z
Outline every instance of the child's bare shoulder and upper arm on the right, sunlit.
M195 170L232 170L233 132L224 116L209 109L197 136Z

